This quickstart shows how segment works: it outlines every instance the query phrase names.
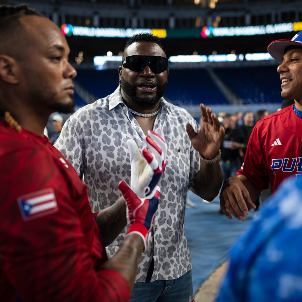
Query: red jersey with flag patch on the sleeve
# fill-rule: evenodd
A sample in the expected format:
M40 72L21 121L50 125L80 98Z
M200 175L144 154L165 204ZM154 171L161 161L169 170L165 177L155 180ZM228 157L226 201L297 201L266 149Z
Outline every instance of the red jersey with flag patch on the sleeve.
M47 138L0 121L0 300L128 301L86 187Z

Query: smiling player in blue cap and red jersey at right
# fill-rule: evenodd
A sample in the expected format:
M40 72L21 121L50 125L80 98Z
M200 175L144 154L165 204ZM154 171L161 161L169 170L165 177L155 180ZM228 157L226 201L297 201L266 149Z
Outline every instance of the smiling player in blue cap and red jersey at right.
M271 42L267 51L281 62L277 67L281 96L293 99L295 104L265 116L255 125L241 169L223 183L219 196L221 209L229 219L233 215L245 220L262 190L271 184L274 194L285 178L302 173L302 31L292 40Z

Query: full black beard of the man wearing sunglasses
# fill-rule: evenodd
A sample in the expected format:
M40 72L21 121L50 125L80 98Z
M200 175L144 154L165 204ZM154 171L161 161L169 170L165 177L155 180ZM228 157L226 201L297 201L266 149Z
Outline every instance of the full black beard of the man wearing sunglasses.
M157 94L152 98L148 97L138 97L136 96L136 86L131 85L123 77L120 78L120 86L123 88L124 92L129 96L134 104L138 104L141 107L149 108L157 104L160 98L164 95L168 82L165 82L162 86L157 86Z

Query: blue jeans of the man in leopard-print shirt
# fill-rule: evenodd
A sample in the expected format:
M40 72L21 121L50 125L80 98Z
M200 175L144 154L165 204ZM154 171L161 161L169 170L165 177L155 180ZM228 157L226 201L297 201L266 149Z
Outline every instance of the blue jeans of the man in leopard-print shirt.
M156 280L134 284L130 302L191 302L194 301L192 272L175 280Z

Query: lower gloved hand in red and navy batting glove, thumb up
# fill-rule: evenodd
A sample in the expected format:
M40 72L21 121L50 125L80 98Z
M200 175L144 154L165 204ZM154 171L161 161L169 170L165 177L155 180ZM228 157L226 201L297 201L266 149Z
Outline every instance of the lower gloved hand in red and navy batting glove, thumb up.
M146 250L154 215L158 206L160 188L157 185L148 198L139 198L124 181L120 181L118 187L127 204L128 233L126 236L133 233L140 235L144 241Z

